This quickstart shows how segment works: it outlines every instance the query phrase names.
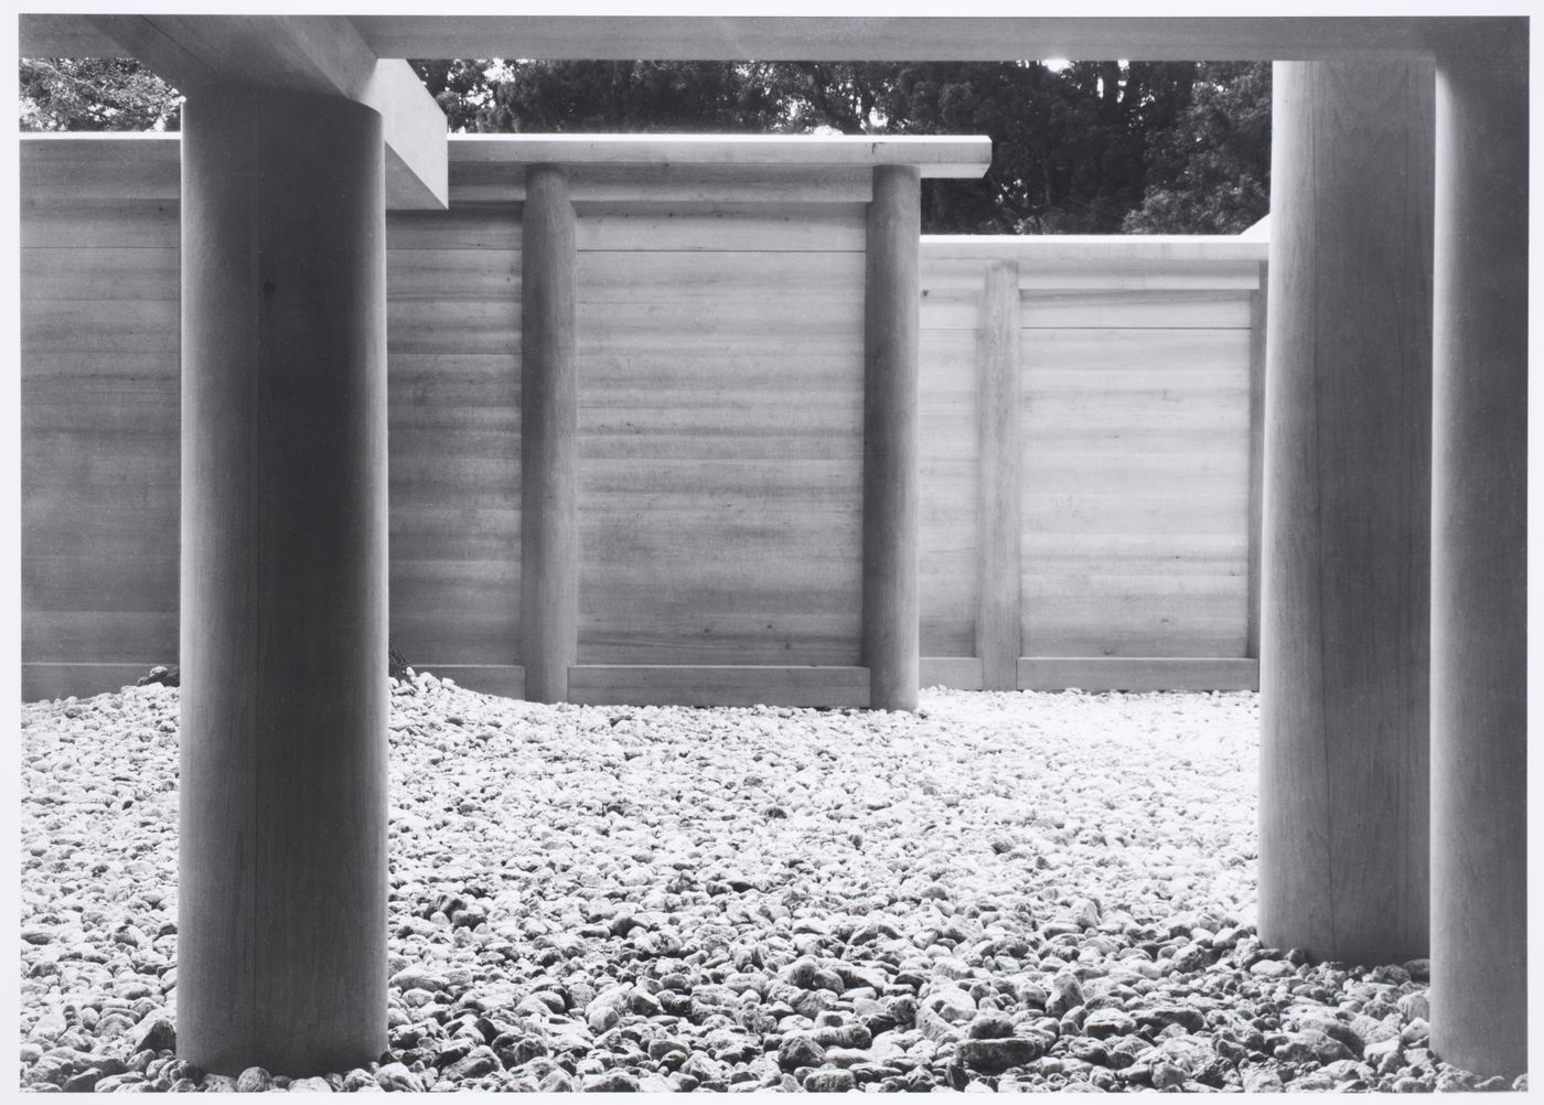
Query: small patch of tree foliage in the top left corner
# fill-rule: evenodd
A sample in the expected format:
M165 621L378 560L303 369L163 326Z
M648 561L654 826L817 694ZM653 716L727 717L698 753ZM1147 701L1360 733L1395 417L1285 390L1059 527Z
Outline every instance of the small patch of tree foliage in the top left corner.
M182 96L125 57L22 59L23 131L174 131Z

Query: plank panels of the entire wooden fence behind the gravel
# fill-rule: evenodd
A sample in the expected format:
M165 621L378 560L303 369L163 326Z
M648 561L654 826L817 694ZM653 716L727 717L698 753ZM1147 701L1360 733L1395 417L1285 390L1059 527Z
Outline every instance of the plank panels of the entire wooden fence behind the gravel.
M43 698L178 653L178 144L22 153L23 694ZM573 182L573 698L863 704L866 170L644 182ZM522 199L452 142L451 210L388 216L392 640L508 694ZM923 239L923 684L1254 685L1263 261L1232 239Z

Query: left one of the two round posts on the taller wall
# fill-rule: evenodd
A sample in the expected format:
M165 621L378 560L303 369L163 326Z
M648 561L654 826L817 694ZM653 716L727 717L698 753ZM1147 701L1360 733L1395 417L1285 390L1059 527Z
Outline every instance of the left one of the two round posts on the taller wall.
M520 662L564 702L579 640L574 208L556 165L525 170L520 369Z

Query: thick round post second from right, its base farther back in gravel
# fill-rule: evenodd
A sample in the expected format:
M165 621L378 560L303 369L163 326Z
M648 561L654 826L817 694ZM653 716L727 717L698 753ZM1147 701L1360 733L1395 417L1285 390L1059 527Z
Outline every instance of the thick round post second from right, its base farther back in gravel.
M1275 65L1260 935L1422 955L1433 76Z

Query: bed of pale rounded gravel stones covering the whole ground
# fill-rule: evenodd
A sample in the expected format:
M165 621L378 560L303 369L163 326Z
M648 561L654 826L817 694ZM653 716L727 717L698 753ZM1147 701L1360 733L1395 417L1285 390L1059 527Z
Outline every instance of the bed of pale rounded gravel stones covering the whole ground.
M1464 1090L1427 965L1254 932L1254 694L916 715L394 682L391 1051L178 1062L178 691L22 710L31 1090ZM1525 1086L1525 1079L1516 1083Z

